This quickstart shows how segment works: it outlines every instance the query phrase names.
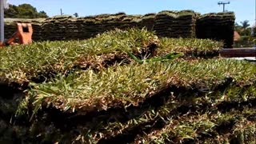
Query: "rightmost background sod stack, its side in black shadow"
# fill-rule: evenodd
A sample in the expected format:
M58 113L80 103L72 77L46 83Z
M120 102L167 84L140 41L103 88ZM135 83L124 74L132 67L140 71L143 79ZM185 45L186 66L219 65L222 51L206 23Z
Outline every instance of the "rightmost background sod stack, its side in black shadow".
M234 13L204 14L197 20L197 38L224 40L226 48L234 44Z

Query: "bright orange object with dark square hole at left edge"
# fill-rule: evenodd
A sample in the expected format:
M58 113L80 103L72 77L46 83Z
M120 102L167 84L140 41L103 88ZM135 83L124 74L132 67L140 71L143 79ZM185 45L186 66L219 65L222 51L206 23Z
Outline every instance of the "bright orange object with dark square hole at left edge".
M19 44L32 43L33 28L30 23L17 23L17 32L12 35L6 42L0 42L0 46L15 45L15 39L18 38Z

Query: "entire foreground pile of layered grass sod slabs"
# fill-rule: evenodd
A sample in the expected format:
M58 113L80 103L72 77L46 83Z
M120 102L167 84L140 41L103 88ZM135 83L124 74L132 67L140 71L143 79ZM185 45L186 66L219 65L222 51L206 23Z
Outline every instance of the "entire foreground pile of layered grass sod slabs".
M0 143L254 143L256 66L111 30L0 49Z

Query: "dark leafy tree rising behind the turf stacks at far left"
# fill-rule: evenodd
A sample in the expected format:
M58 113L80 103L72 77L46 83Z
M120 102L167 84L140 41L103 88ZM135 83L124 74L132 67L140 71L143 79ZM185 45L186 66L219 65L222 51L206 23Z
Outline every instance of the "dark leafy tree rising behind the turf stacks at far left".
M18 6L10 5L5 10L5 18L48 18L45 11L40 11L30 4L22 4Z

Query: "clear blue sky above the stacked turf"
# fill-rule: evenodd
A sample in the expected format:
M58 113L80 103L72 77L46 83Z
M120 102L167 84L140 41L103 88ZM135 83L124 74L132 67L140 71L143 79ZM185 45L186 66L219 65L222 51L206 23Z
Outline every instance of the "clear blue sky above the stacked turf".
M221 12L222 6L218 2L227 0L9 0L10 4L19 5L30 3L38 11L44 10L49 16L60 14L78 13L79 16L95 14L126 14L157 13L161 10L194 10L201 14ZM236 21L240 23L249 20L250 24L255 21L256 0L230 0L226 10L234 11Z

